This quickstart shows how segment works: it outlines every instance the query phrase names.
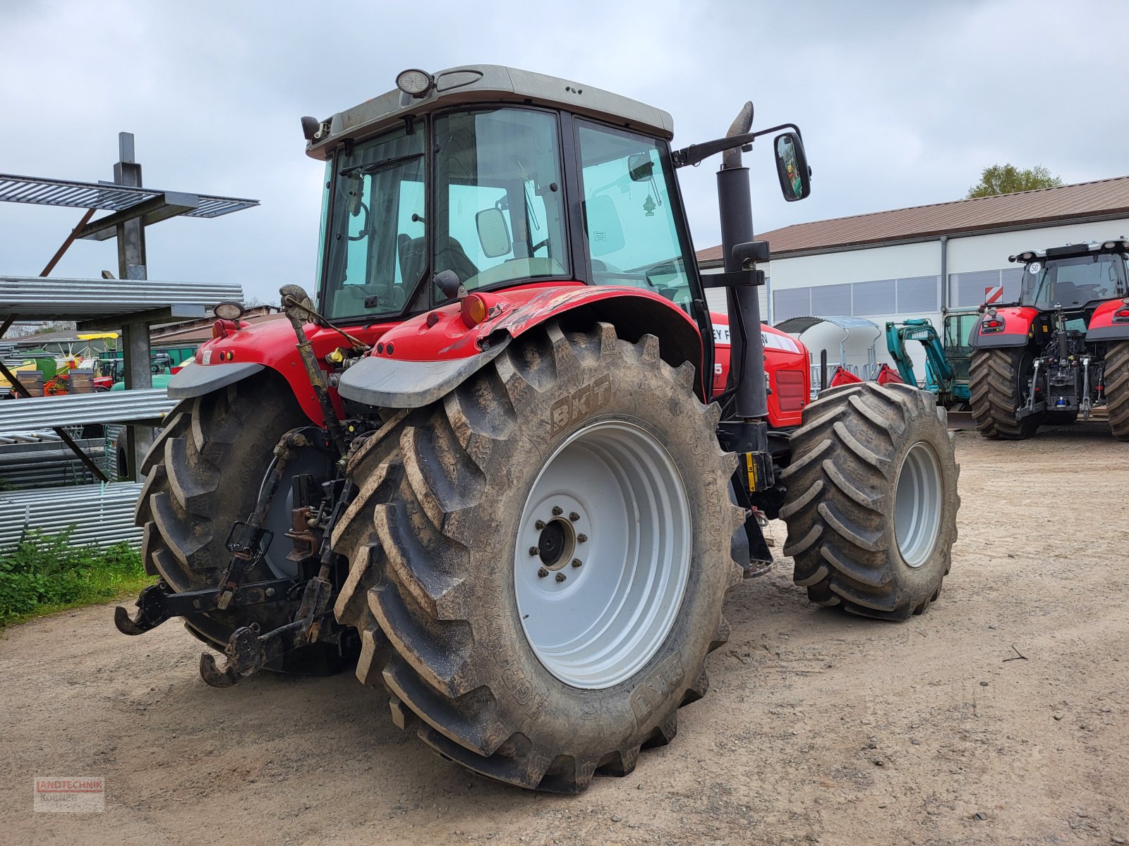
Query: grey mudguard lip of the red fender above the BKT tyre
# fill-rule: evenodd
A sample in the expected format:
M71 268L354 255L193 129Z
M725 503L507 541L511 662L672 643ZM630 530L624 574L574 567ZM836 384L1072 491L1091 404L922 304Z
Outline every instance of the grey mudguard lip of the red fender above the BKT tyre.
M341 374L338 391L345 399L380 408L420 408L450 393L509 345L509 336L469 359L400 361L361 359Z

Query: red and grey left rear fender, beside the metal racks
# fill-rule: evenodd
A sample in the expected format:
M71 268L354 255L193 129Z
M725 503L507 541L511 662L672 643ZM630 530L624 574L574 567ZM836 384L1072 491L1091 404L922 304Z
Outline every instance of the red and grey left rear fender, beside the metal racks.
M274 370L294 391L298 405L317 425L325 422L317 397L306 376L298 355L298 338L289 320L277 319L251 325L243 323L235 329L230 321L222 321L218 328L220 337L202 344L193 358L193 363L181 368L168 382L168 396L174 399L210 394L233 385L264 369ZM350 334L366 343L376 343L394 324L378 324L366 327L349 327ZM339 346L347 345L333 329L306 324L306 336L314 349L314 355L323 370L325 356ZM339 415L343 415L341 399L331 389L330 397Z

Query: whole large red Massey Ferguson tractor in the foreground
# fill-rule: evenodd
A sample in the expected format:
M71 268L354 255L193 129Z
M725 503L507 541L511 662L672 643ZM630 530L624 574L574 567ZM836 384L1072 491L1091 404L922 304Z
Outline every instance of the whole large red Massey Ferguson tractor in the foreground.
M303 118L317 305L286 285L289 325L251 327L221 303L173 378L138 505L159 581L119 628L183 617L221 687L355 660L445 758L577 792L706 693L765 518L814 601L925 610L956 537L944 412L902 385L808 403L806 351L761 327L741 149L780 133L788 200L809 171L795 126L752 118L672 150L665 112L492 65ZM703 277L675 170L717 153Z

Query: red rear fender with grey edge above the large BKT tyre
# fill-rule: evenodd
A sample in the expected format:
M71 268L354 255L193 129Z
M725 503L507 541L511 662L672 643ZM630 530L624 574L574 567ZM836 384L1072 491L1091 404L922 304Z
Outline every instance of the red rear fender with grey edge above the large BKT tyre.
M404 321L341 376L341 396L384 408L418 408L456 388L514 338L552 319L566 328L610 323L620 337L631 342L651 334L658 338L664 361L674 367L690 361L701 369L698 326L673 302L650 291L554 282L470 297L483 301L487 319L467 327L463 306L453 302ZM704 400L706 386L699 382L697 390Z

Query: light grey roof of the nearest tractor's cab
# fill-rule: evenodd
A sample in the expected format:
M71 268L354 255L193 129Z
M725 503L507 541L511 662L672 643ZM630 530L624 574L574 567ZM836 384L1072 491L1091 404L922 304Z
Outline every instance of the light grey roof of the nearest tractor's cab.
M347 139L368 138L395 125L406 115L425 115L460 103L543 105L667 141L674 135L674 121L663 109L568 79L499 64L448 68L432 77L435 82L422 97L393 89L323 121L318 134L306 143L306 155L327 159Z

